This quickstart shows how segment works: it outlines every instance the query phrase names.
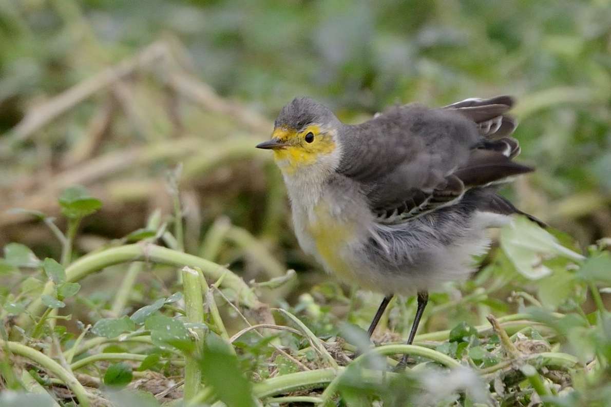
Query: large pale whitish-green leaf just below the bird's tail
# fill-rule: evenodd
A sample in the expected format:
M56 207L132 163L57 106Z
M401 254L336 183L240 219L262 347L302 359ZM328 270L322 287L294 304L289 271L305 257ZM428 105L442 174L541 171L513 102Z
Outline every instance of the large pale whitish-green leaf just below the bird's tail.
M549 276L552 271L543 261L554 256L584 260L584 256L558 243L551 233L525 216L519 216L500 232L500 246L518 273L531 280Z

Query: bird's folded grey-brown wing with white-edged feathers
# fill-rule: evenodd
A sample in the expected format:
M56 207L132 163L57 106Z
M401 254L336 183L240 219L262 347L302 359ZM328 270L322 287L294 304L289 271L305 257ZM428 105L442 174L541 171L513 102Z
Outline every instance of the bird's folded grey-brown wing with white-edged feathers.
M511 161L519 144L513 100L467 99L439 109L398 106L346 128L337 172L362 186L384 222L451 205L468 188L532 171Z

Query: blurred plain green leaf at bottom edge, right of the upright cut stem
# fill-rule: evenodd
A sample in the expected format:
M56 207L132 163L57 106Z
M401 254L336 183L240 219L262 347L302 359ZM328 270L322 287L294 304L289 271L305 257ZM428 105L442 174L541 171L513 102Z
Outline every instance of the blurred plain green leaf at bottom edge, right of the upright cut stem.
M229 343L214 332L206 336L200 367L203 381L227 407L255 405L251 383L238 367L238 358L230 351Z

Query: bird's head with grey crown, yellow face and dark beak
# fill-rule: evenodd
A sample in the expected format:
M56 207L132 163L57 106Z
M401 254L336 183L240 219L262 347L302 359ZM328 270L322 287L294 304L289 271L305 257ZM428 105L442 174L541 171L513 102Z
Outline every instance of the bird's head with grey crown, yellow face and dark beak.
M296 172L331 172L340 160L338 131L342 122L325 106L310 98L295 98L274 122L272 138L257 145L274 152L287 175Z

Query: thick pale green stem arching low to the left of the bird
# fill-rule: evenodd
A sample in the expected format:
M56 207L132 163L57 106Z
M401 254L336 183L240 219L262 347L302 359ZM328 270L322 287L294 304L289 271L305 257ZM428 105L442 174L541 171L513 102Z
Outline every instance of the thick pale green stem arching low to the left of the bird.
M105 267L112 266L125 262L150 261L172 266L190 266L199 267L203 274L210 279L219 279L225 274L223 285L227 288L232 288L238 294L240 301L247 307L255 307L259 303L257 296L244 283L241 277L236 276L231 271L216 263L201 259L200 257L178 252L155 244L126 244L117 248L106 249L101 252L86 255L76 260L66 269L68 282L79 281L89 274L102 270ZM53 283L48 282L45 285L43 294L53 293ZM27 307L27 312L32 315L40 314L45 307L40 299L32 301ZM21 315L18 318L18 325L27 326L30 321L26 315Z

